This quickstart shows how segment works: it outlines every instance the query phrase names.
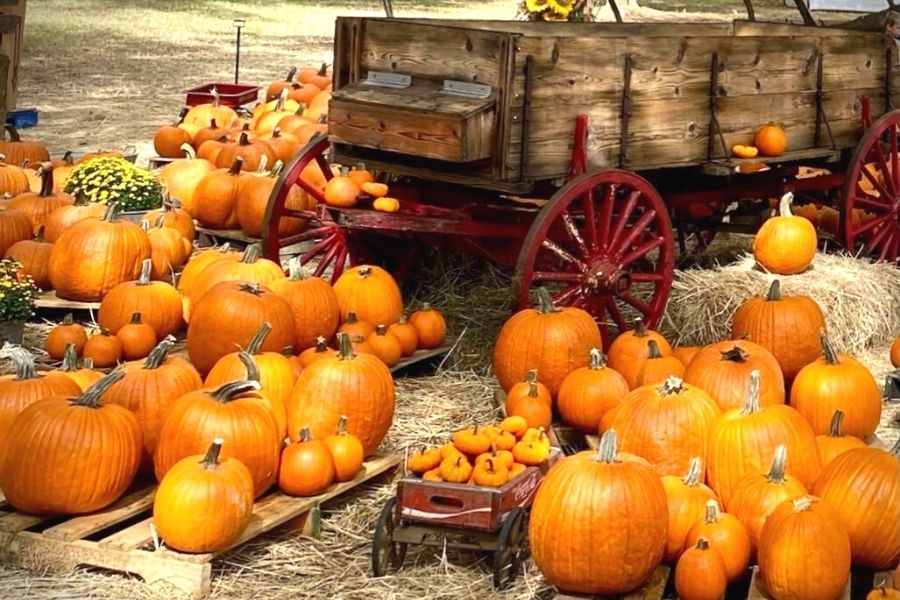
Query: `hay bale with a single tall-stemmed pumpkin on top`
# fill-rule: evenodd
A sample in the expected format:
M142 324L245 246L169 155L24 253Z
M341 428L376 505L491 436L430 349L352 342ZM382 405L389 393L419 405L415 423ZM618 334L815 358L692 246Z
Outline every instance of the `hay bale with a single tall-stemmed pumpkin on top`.
M774 279L784 295L803 294L819 304L841 352L860 352L900 331L900 270L822 253L810 269L792 276L761 271L747 254L712 269L676 271L662 328L679 344L728 338L734 311L747 298L764 295Z

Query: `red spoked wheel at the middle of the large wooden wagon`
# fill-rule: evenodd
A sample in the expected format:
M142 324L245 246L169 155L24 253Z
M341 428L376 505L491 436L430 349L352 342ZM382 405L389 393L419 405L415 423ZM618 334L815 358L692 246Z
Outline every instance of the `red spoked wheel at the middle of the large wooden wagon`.
M532 286L547 286L558 303L594 316L608 348L634 317L659 322L674 268L669 212L653 186L628 171L587 173L531 226L516 265L519 306Z

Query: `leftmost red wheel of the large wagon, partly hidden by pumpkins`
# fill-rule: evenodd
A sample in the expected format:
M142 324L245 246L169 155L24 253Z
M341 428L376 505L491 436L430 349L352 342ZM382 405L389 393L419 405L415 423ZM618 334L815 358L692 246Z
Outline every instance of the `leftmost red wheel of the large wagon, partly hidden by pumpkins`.
M330 279L334 282L341 276L348 261L355 264L355 257L347 243L347 231L332 219L321 187L301 176L307 167L312 169L318 166L325 180L331 179L331 168L326 158L329 150L327 137L314 137L281 172L266 206L262 239L266 257L271 260L278 260L282 248L305 242L301 246L300 264L309 265L317 277L327 275L330 267ZM285 206L293 185L315 198L317 207L314 211L294 210ZM287 218L307 219L309 224L300 233L281 237L278 225L282 219Z

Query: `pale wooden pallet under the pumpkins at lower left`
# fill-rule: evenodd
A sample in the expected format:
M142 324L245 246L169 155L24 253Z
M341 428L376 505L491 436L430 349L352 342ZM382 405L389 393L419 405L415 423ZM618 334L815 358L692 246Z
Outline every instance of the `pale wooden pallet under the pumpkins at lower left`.
M186 554L159 547L151 529L156 486L137 487L107 509L80 517L28 515L0 502L0 564L40 572L68 574L79 565L102 567L140 576L146 583L164 582L202 598L209 593L212 561L276 527L309 531L322 503L344 494L403 462L400 454L376 455L351 481L310 498L292 498L279 491L253 506L253 518L240 538L218 552Z

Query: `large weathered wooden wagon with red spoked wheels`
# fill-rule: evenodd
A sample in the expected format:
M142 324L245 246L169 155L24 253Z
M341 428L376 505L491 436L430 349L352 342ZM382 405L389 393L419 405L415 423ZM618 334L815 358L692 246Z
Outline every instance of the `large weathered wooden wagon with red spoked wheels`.
M520 305L544 285L590 311L607 344L634 317L658 321L676 247L743 212L758 225L768 204L749 199L832 205L838 242L894 261L897 64L893 40L840 28L339 18L329 134L282 174L267 252L304 243L302 262L336 277L347 262L409 264L417 242L463 249L514 267ZM742 173L732 145L770 121L787 152ZM301 177L314 162L326 177L329 162L386 174L400 211L327 206ZM798 177L801 164L828 172ZM294 184L318 210L285 208ZM279 237L298 216L310 226Z

